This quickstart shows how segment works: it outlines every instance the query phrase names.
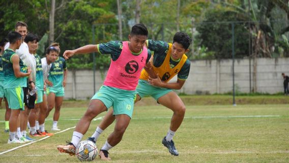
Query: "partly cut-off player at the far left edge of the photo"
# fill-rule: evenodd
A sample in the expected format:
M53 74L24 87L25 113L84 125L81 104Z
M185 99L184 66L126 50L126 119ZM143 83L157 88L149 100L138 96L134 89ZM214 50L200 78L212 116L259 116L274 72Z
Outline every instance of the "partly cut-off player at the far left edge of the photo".
M2 105L2 99L4 98L5 100L5 132L9 132L9 118L11 115L11 109L8 107L8 102L6 100L6 97L4 95L4 88L3 88L3 83L4 83L4 74L3 74L3 61L2 61L2 55L4 53L4 47L8 43L7 39L3 39L0 42L0 106Z

